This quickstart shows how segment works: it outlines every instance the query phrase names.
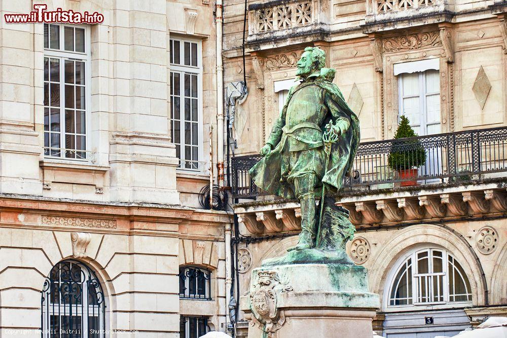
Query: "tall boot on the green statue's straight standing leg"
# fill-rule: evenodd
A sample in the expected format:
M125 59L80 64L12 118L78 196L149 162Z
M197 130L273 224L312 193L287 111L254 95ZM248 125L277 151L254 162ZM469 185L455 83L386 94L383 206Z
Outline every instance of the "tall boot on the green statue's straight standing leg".
M313 193L305 194L300 197L301 204L301 233L299 242L291 250L311 249L315 245L316 224L315 219L315 197Z

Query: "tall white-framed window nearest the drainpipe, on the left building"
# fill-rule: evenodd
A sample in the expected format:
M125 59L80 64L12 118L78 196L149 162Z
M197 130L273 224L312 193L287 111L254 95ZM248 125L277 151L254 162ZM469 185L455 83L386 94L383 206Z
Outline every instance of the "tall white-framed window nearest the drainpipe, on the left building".
M201 171L202 60L201 43L170 39L171 137L179 168Z

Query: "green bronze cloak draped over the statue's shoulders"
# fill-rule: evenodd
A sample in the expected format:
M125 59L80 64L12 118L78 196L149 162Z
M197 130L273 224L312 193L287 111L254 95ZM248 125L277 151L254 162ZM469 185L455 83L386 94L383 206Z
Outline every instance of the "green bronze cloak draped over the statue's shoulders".
M325 71L325 69L326 68L322 68L321 74ZM304 84L305 82L298 86L294 86L289 91L282 110L283 116L285 116L284 113L287 110L287 106L291 101L292 95L299 86ZM314 84L327 91L331 95L331 98L340 107L341 114L347 116L350 120L349 128L339 136L336 143L333 143L329 165L322 176L322 182L325 183L326 189L328 191L336 192L341 189L344 176L348 174L352 168L352 163L360 139L359 119L348 106L338 86L325 80L323 76L319 76ZM332 111L328 114L328 117L324 119L320 125L320 129L325 130L325 125L330 120L333 120L333 124L336 122ZM282 137L284 136L282 135ZM262 190L282 198L295 199L294 186L281 180L281 156L286 156L281 154L281 143L283 142L279 142L267 156L263 157L250 169L250 177ZM318 189L316 189L315 194L320 197Z

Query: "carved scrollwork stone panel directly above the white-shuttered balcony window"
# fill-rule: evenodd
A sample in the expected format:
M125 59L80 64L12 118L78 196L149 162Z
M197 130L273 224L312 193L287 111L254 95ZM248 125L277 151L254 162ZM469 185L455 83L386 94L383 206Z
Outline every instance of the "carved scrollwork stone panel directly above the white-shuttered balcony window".
M382 44L383 52L397 52L434 46L442 46L439 31L388 37L383 39Z

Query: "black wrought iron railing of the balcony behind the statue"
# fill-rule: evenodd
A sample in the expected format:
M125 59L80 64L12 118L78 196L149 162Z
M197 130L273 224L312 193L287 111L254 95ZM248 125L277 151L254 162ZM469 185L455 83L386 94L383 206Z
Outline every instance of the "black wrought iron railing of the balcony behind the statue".
M232 158L233 198L262 195L248 170L259 155ZM507 127L359 144L345 189L379 190L421 184L473 183L507 172Z

